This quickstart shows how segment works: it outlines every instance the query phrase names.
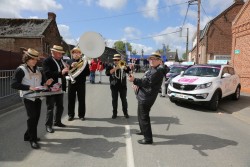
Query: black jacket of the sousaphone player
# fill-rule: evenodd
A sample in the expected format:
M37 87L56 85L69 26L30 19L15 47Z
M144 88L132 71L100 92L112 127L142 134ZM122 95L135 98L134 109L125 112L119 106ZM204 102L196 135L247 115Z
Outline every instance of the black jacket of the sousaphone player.
M81 59L79 59L78 61L80 61L80 60ZM74 59L70 59L67 61L67 63L70 65L70 70L72 69L71 64L73 62L78 62L78 61L76 61ZM85 61L87 61L87 60L85 60ZM86 77L89 76L89 74L90 74L90 70L89 70L89 64L87 62L83 71L77 77L74 78L76 81L74 84L84 84L86 82ZM69 82L71 83L71 81L69 81Z

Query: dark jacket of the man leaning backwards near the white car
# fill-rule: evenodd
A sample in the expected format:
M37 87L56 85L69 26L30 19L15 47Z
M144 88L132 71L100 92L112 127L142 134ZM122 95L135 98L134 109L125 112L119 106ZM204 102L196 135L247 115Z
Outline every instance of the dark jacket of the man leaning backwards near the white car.
M136 98L140 103L154 104L164 77L163 68L150 68L142 78L135 78L133 84L139 87Z

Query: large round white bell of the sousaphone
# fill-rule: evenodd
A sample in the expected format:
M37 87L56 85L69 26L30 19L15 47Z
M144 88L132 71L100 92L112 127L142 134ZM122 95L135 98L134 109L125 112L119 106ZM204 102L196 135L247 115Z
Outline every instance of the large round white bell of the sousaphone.
M105 50L103 37L96 32L85 32L79 40L79 48L88 58L100 57Z

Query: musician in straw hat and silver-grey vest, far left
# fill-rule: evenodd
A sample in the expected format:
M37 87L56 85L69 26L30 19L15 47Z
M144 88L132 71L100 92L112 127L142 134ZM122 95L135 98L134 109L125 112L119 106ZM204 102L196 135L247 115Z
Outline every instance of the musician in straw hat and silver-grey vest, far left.
M13 89L20 90L20 96L23 97L23 103L27 112L27 130L24 134L24 141L29 141L33 149L39 149L37 143L40 138L37 137L37 125L41 113L41 98L25 98L23 95L31 91L39 90L38 87L50 85L53 79L45 78L37 68L39 53L32 48L24 51L22 61L24 64L17 67L11 81Z

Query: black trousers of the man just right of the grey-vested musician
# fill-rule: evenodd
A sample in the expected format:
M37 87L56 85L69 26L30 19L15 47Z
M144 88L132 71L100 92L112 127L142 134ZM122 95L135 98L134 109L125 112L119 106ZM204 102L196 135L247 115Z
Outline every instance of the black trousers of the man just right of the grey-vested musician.
M46 117L46 126L53 125L54 118L54 106L56 106L54 123L61 123L61 117L63 114L63 94L57 94L46 97L47 104L47 117Z

